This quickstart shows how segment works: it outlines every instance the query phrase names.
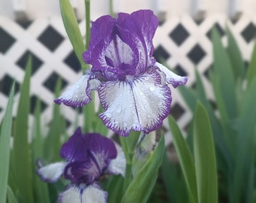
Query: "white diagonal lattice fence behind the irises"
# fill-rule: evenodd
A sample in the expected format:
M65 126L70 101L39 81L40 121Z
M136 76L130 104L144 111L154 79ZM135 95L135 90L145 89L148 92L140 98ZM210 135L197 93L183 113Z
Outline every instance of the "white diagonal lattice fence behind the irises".
M207 71L212 65L210 29L217 26L226 44L224 29L226 25L229 26L246 62L250 59L254 44L255 24L256 16L250 17L245 14L235 23L227 20L224 15L211 15L197 23L189 15L169 17L157 29L154 37L154 56L166 60L179 74L186 74L189 78L187 86L194 84L194 68L197 66L203 76L209 99L214 100L207 77ZM82 34L85 35L84 21L79 25ZM53 89L57 77L62 78L63 90L81 77L80 65L75 59L60 17L36 18L23 25L7 17L0 17L0 120L4 116L8 92L14 79L17 80L14 116L16 114L19 86L23 81L23 68L29 53L33 59L31 101L33 104L35 98L41 99L44 123L51 120L54 105ZM172 114L184 130L192 115L179 92L172 89L172 94ZM62 111L67 122L71 124L71 129L75 120L75 110L65 107ZM30 119L32 120L32 116ZM168 129L166 121L164 125ZM166 136L167 144L169 139L170 136Z

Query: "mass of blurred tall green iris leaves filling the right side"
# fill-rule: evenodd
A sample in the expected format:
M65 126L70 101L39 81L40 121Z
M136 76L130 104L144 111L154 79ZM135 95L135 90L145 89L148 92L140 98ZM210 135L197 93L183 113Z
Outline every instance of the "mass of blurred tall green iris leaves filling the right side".
M197 101L202 103L209 114L217 161L218 201L253 202L255 199L256 112L253 105L256 99L256 46L246 69L239 47L229 29L227 29L227 38L228 46L225 48L216 29L212 30L214 62L209 76L217 109L209 102L197 70L196 88L181 87L181 94L195 117L197 117ZM200 119L198 127L206 126L204 122L205 120ZM203 141L203 138L199 141ZM209 144L205 142L201 144L206 147L205 150L209 150ZM195 156L199 149L198 146L196 148L194 146Z

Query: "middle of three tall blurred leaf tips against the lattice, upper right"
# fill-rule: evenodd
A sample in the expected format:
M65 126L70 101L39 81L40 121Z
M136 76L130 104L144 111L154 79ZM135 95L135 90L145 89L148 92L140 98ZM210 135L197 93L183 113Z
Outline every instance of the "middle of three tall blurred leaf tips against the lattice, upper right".
M234 76L237 78L240 78L241 80L244 78L245 75L245 65L242 59L242 54L239 50L239 47L236 43L236 39L234 38L232 32L227 27L227 40L228 40L228 46L227 46L227 53L230 56L230 62L232 64L233 73Z

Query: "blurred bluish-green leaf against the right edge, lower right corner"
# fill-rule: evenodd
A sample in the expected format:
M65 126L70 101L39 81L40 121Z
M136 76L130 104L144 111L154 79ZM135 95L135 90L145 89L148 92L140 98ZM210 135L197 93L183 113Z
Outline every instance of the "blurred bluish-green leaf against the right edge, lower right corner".
M234 168L232 202L251 202L254 182L254 142L256 138L256 78L251 80L242 102L241 114L236 123L237 158Z

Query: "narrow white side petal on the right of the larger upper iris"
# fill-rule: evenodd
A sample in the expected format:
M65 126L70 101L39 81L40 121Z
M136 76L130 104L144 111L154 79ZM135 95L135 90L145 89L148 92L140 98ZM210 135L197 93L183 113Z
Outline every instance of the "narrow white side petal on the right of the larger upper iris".
M156 62L155 65L160 69L160 71L166 74L166 83L172 84L173 87L187 83L187 77L182 77L178 74L175 74L159 62Z

